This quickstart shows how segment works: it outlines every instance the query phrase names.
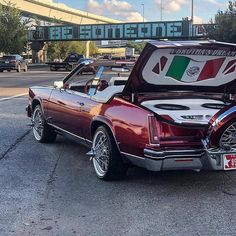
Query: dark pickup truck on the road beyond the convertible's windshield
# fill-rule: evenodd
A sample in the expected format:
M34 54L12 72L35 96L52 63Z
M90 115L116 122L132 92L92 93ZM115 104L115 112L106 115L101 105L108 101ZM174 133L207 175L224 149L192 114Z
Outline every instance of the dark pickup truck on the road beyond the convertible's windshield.
M63 62L47 62L51 71L57 71L59 69L72 70L78 61L84 58L83 54L71 53L69 54Z

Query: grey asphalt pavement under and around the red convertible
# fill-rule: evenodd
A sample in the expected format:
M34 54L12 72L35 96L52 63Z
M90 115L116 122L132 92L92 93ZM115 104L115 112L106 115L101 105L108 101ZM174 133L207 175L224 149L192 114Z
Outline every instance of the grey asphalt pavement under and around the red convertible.
M235 171L133 167L104 182L86 148L62 137L37 143L24 94L66 73L0 74L0 235L235 235Z

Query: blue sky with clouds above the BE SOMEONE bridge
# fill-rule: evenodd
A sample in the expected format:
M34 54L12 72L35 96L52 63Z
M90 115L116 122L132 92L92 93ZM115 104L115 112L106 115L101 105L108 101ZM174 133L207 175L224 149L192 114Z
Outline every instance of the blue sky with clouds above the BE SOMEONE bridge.
M182 20L191 16L192 0L43 0L129 22ZM162 2L162 11L161 9ZM193 0L194 23L208 23L228 0Z

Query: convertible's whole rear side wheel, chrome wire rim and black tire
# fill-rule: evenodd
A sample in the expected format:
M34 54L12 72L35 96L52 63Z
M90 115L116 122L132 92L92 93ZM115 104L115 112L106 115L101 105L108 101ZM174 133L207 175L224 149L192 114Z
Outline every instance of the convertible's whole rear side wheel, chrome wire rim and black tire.
M93 138L93 166L98 178L103 180L118 180L125 177L127 165L118 151L110 131L100 126Z

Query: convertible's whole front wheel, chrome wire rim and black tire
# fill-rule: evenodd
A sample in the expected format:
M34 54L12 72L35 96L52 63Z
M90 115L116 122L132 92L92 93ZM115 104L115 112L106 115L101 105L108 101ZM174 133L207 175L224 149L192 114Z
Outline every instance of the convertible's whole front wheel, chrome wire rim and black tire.
M55 141L57 134L48 126L43 117L40 105L37 105L32 115L33 134L35 139L40 143L52 143Z

